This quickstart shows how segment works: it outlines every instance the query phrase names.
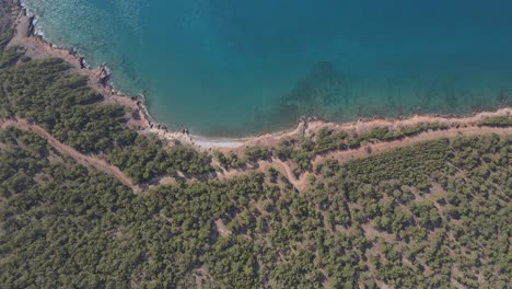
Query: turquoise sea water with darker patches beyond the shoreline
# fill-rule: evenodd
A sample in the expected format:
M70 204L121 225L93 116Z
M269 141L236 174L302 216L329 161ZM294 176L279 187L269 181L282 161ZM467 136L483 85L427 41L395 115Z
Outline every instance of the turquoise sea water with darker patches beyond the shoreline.
M512 1L25 0L171 128L465 114L512 100Z

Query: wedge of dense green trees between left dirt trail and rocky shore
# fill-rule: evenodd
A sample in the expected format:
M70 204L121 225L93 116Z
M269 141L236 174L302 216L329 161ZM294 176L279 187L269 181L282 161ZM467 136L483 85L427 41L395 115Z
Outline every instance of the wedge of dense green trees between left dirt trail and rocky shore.
M4 55L11 55L9 49ZM9 62L0 69L0 117L26 118L79 151L103 154L135 183L212 170L210 158L190 147L175 144L166 150L162 141L126 128L126 109L101 104L103 96L88 86L86 78L70 73L63 60Z

